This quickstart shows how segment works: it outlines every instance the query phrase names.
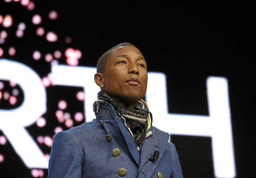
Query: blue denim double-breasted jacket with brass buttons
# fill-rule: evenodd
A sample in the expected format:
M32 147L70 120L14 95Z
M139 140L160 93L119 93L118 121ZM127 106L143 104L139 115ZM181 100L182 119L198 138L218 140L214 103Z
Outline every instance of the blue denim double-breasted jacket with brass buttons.
M129 178L161 177L161 174L163 178L182 178L177 151L168 142L169 134L153 126L151 131L153 136L145 139L139 153L113 106L102 104L92 122L55 135L48 178L121 177L121 168L124 173L121 175ZM107 134L111 141L106 139ZM116 148L119 156L113 155ZM160 152L159 158L148 161L154 151Z

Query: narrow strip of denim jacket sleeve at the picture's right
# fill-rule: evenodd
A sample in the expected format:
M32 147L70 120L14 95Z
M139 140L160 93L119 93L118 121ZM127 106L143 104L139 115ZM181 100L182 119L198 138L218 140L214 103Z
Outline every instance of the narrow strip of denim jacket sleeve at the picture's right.
M170 178L183 178L181 167L180 167L180 160L176 148L173 143L172 145L172 154L173 154L173 169Z

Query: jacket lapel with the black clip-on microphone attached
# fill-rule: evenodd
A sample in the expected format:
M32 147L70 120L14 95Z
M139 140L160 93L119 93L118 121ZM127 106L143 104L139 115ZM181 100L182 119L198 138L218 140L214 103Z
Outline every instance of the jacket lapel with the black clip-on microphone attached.
M158 130L153 126L151 126L151 131L153 136L145 139L141 148L139 171L144 163L148 161L148 158L153 156L154 151L159 151L159 158L154 161L154 163L148 161L148 163L146 163L141 170L141 172L143 173L139 174L138 172L138 177L145 177L145 175L143 174L146 174L147 177L151 177L156 169L157 164L159 163L159 160L162 158L162 155L169 140L170 135L168 133Z

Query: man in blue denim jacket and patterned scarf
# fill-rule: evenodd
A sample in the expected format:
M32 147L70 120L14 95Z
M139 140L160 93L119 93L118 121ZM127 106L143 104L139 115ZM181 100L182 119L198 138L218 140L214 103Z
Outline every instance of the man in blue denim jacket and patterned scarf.
M56 134L48 177L182 178L169 134L151 125L142 100L148 74L140 50L130 43L108 50L94 81L101 89L93 104L96 119Z

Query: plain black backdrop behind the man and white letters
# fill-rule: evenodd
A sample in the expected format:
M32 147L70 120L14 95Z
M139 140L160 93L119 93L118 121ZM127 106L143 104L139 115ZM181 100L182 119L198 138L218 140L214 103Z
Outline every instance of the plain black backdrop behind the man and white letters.
M14 19L12 27L0 26L0 31L4 29L8 32L6 42L0 47L7 51L13 46L17 51L13 57L5 52L3 58L31 66L44 77L51 71L50 64L44 60L33 60L34 50L40 50L43 56L54 50L64 52L67 47L73 47L83 53L79 66L96 66L98 58L106 50L118 43L129 42L137 46L146 58L148 71L167 75L169 112L172 113L208 115L206 77L226 77L236 177L255 177L254 3L189 0L34 2L35 9L28 11L19 2L0 1L0 14L11 14ZM58 19L48 19L51 10L58 12ZM45 31L54 31L59 37L57 42L49 43L45 37L36 35L38 26L31 23L36 13L43 19L39 26ZM27 25L22 38L15 36L19 22ZM65 43L67 36L72 38L70 44ZM66 64L65 56L62 55L59 61ZM48 125L42 129L31 126L27 128L29 133L35 135L35 139L36 135L53 134L52 125L57 123L51 120L54 116L51 111L56 108L56 101L63 96L68 100L65 94L78 90L81 89L47 88L48 111L44 116L48 118ZM83 102L73 103L73 106L83 112ZM8 107L14 106L1 101L0 108ZM172 142L179 153L184 178L214 178L211 138L173 135ZM43 145L40 148L50 153L50 148ZM0 153L5 156L5 161L0 163L0 177L31 177L30 170L23 165L10 143L0 145ZM47 170L44 172L46 177Z

